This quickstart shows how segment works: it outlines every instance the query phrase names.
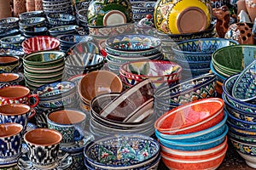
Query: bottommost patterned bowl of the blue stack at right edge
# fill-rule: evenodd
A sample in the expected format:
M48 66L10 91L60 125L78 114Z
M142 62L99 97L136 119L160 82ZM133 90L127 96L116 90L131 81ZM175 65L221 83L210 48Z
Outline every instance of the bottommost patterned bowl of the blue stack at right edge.
M235 147L238 154L245 159L247 165L249 167L256 167L255 154L253 150L255 150L255 143L245 143L241 142L237 139L230 138L231 143Z

